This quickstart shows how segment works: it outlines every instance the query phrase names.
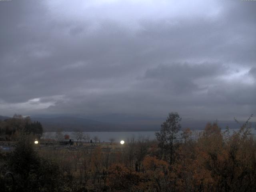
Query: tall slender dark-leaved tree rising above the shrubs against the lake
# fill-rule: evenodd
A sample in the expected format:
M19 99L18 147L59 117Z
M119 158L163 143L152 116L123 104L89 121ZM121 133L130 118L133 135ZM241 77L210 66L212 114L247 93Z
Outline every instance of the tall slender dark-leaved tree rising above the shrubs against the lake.
M177 133L181 128L180 121L181 118L177 112L169 113L168 118L161 125L160 132L156 132L159 147L164 156L169 156L170 165L173 162L174 140L177 138Z

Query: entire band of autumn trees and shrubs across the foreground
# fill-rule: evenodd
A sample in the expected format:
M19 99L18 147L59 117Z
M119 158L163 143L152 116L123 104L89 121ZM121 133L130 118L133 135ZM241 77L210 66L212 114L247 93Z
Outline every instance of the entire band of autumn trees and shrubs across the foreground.
M178 124L180 118L175 118L176 115L171 114L170 119ZM17 159L12 153L5 157L6 162L11 163L4 160L0 163L7 165L2 166L3 170L13 170L16 178L28 179L37 167L30 167L31 170L24 174L26 172L20 170L20 162L24 162L23 167L26 168L26 157L31 157L31 161L38 162L41 167L53 163L48 162L46 157L53 160L54 171L58 170L56 178L66 182L55 179L54 186L48 186L48 179L40 175L47 184L40 187L52 188L52 191L256 191L256 140L248 121L236 131L229 128L221 130L214 122L206 124L201 132L184 129L178 136L180 125L172 124L170 119L162 125L164 131L158 134L162 142L140 138L138 141L129 140L122 149L118 148L118 144L109 144L105 148L97 144L80 149L48 150L45 153L41 150L39 154L28 147L26 156L22 153ZM110 150L112 147L116 148ZM40 156L44 156L44 160L40 160ZM46 167L44 175L51 174L51 166ZM31 183L34 184L34 181L31 180Z

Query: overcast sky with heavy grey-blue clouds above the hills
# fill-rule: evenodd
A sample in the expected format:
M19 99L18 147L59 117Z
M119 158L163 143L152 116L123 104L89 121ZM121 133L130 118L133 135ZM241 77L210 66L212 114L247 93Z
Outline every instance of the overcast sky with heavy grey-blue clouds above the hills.
M256 115L256 1L0 1L0 115L168 112Z

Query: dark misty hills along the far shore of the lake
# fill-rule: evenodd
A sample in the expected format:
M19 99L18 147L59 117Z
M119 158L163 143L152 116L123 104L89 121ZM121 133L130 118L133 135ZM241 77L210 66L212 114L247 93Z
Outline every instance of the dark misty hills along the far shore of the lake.
M0 116L0 120L10 117ZM100 119L101 121L97 121ZM92 119L74 117L74 116L53 116L53 117L32 117L32 121L42 123L45 132L63 131L158 131L161 128L164 118L145 118L145 117L129 117L129 116L108 116L106 118L98 117ZM182 120L182 129L190 128L191 130L202 130L206 126L207 120ZM244 122L241 122L243 124ZM255 122L252 127L255 128ZM230 129L240 128L240 125L234 121L218 121L218 125L224 129L229 126Z

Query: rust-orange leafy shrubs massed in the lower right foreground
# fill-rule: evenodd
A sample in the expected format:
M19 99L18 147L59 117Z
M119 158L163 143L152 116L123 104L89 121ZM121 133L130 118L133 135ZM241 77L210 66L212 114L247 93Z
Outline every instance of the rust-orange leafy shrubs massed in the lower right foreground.
M136 173L120 166L110 174L112 188L118 183L128 181L131 189L137 191L255 191L256 179L256 142L248 131L238 131L223 139L216 123L207 124L198 140L187 139L190 130L182 135L186 142L174 144L174 161L172 164L157 157L157 147L149 150L143 162L142 173ZM153 152L152 152L153 151ZM129 175L133 175L132 180ZM115 176L115 177L114 177ZM120 176L123 180L118 180ZM115 188L115 187L114 187ZM118 189L127 189L119 186ZM128 190L128 191L129 191Z

